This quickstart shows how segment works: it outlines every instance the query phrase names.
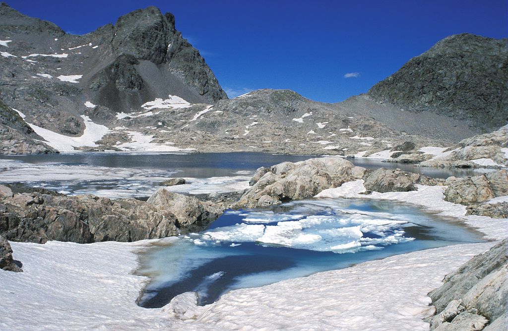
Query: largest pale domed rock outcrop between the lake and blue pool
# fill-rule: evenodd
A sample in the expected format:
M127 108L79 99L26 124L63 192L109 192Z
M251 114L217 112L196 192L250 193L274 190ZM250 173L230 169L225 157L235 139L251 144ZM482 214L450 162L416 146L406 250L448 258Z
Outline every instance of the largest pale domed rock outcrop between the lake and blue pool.
M365 171L338 157L282 162L269 171L260 168L250 181L252 186L233 208L263 207L312 197L324 189L362 178Z

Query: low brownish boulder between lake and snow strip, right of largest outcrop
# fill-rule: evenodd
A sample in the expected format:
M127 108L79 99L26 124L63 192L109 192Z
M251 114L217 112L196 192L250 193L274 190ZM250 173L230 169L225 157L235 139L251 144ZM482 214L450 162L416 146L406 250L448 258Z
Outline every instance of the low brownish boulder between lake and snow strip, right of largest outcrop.
M424 175L401 171L400 169L379 168L365 179L364 186L368 191L407 192L415 191L416 184L442 185L444 180Z

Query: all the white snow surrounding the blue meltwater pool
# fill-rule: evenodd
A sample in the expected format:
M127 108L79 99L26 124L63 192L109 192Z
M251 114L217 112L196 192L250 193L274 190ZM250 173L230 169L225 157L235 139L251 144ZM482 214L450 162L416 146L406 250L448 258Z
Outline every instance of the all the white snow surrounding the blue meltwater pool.
M420 186L418 191L370 196L358 194L362 187L359 181L350 182L320 196L404 200L432 207L443 216L461 217L465 213L464 206L442 201L439 187ZM465 221L488 238L506 238L507 219L467 216ZM14 258L24 263L24 272L0 273L6 316L0 320L0 327L428 329L422 320L433 313L427 293L440 286L446 274L494 245L463 244L396 255L231 291L205 307L193 305L189 300L193 295L182 294L161 309L147 310L135 303L147 282L146 277L133 274L138 268L136 252L161 241L171 242L171 238L85 245L11 243ZM408 261L415 263L407 266Z

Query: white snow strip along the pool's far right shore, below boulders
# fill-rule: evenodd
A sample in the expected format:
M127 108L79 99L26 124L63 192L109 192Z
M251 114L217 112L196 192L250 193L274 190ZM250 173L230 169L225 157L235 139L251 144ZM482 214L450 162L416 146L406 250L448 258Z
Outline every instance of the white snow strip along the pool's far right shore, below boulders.
M416 185L417 191L409 192L372 192L371 194L358 194L365 191L363 180L347 182L337 188L326 189L316 197L344 197L368 198L376 200L394 200L424 207L429 212L436 212L443 217L460 219L467 225L479 229L487 239L500 240L508 237L508 219L490 218L487 216L467 215L466 206L444 201L443 192L446 186Z

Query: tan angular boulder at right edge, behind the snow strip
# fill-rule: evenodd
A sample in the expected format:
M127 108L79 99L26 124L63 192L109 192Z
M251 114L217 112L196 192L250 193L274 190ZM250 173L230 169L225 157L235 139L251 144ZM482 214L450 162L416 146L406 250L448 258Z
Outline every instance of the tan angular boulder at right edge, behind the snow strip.
M506 170L500 170L474 177L449 177L445 185L448 187L444 191L444 200L469 205L508 195L508 174Z

